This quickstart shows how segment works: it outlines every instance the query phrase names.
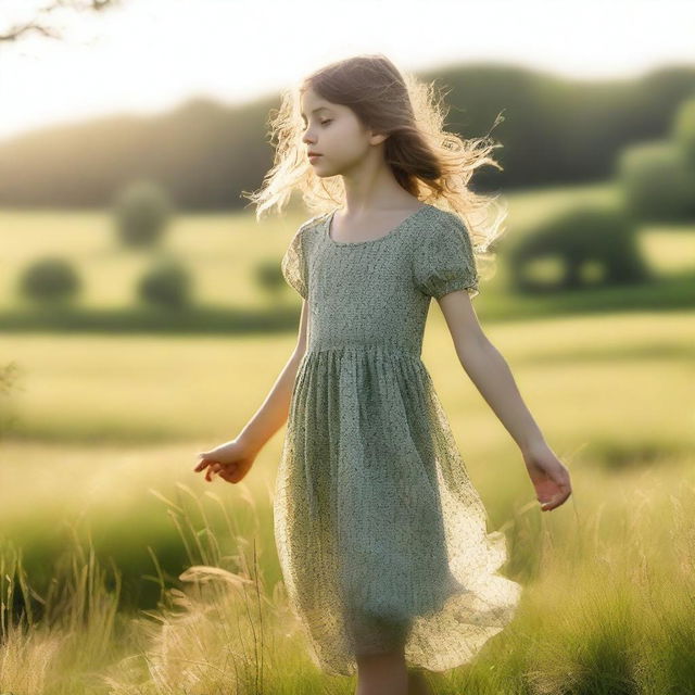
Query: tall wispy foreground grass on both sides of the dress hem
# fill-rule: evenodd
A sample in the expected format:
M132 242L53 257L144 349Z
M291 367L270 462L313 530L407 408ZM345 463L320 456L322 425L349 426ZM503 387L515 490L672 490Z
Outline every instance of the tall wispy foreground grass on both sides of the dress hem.
M606 478L555 516L535 505L506 525L525 594L516 619L471 664L430 675L442 695L664 695L695 683L695 481L684 466ZM178 483L162 498L190 560L156 609L117 614L118 583L74 534L54 583L35 593L20 552L2 546L0 688L14 695L354 693L354 678L312 661L283 584L267 585L254 533L213 528ZM161 495L157 491L155 494ZM254 519L256 502L241 494ZM603 498L603 496L601 497ZM198 522L198 520L201 520ZM223 551L228 541L231 549ZM513 560L515 559L513 557ZM311 568L307 568L311 571ZM117 577L117 569L112 572Z

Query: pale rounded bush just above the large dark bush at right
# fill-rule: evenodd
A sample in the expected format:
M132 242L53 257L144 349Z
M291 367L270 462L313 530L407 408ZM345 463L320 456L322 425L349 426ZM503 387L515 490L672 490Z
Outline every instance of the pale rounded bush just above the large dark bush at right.
M627 210L641 219L695 217L695 166L677 142L655 141L626 148L618 179Z

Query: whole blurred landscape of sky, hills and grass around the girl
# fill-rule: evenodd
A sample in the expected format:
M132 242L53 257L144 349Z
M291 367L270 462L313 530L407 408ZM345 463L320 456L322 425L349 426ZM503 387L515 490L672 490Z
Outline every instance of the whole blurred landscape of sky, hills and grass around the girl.
M0 691L327 682L274 545L283 430L239 485L192 469L294 346L279 262L308 213L242 195L269 111L381 52L446 90L450 130L504 116L475 307L574 485L541 515L433 302L422 358L527 587L438 692L695 692L694 30L675 0L0 0Z

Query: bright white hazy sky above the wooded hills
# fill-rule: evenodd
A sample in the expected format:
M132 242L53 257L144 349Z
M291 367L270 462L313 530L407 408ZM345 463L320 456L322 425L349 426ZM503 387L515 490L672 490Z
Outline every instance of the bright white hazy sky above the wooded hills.
M0 0L0 33L49 2ZM695 66L695 0L122 0L50 17L63 40L0 42L0 139L189 98L241 103L356 53L573 79Z

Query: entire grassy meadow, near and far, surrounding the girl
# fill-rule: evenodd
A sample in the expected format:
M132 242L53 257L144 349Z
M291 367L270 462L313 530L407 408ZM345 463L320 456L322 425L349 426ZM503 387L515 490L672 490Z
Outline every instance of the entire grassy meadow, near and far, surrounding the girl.
M510 220L521 229L570 194L511 197ZM143 261L109 247L103 215L5 211L0 220L9 270L0 308L21 304L14 268L47 250L84 268L86 304L130 301L124 278ZM206 303L292 311L289 288L262 296L249 268L279 261L300 222L185 216L169 248L201 269ZM670 280L693 273L692 239L684 229L641 232L665 280L653 292L668 296ZM458 364L434 302L422 359L489 529L507 535L503 571L525 586L515 621L473 662L433 674L435 691L695 692L695 311L666 302L647 311L646 290L624 289L624 311L598 311L590 299L591 311L564 312L558 298L539 316L517 317L503 280L483 285L475 306L569 467L573 495L541 514L518 450ZM15 362L20 378L0 440L0 693L354 693L354 678L314 667L288 610L271 516L283 430L238 485L192 471L195 452L231 439L253 415L293 345L293 332L2 336L1 363Z

